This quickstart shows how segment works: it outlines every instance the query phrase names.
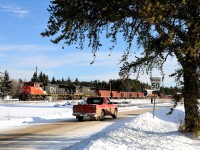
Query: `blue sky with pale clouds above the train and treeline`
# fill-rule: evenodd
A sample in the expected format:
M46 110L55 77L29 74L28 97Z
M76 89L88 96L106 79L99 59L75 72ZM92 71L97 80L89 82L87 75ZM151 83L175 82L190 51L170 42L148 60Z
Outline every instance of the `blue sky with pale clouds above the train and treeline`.
M47 25L49 4L50 0L0 1L0 72L7 70L11 78L29 81L37 66L38 72L42 71L50 80L52 77L78 78L80 81L119 79L119 60L126 48L123 40L118 41L112 52L108 50L109 41L106 41L97 53L95 63L90 65L93 61L90 48L85 46L81 51L72 45L62 49L62 43L52 44L50 38L40 35ZM133 50L136 49L137 46L133 46ZM174 79L168 74L177 67L174 58L167 60L164 86L175 86ZM152 76L161 75L155 70ZM150 84L149 75L141 75L139 80Z

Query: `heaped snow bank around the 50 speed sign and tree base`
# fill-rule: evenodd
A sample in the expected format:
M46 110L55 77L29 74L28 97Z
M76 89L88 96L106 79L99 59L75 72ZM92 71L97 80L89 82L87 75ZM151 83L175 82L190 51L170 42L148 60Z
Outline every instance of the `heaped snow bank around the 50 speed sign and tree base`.
M179 123L184 119L183 107L166 115L169 109L145 113L109 132L105 137L91 141L85 150L194 150L200 148L200 141L183 136L178 132ZM197 145L197 146L195 146Z

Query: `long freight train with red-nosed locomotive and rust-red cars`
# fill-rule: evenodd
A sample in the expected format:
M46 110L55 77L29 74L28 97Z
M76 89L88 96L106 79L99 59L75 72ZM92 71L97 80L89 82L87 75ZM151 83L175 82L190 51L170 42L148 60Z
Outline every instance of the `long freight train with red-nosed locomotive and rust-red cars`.
M89 96L109 97L113 99L144 98L143 92L124 92L111 90L98 90L96 88L74 85L40 84L25 82L19 94L19 100L39 100L47 96L54 99L81 99Z

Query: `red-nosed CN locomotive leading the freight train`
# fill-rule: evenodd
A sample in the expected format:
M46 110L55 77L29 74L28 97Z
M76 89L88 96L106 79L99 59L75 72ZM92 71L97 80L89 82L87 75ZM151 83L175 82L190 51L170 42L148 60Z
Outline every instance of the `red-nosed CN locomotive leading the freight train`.
M75 86L25 82L21 88L19 100L38 100L47 96L56 99L72 99L75 90Z

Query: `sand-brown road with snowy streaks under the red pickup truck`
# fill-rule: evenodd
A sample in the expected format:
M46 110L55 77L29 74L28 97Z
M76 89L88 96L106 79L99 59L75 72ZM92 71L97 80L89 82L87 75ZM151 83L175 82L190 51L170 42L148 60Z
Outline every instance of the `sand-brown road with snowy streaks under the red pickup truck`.
M152 108L129 110L118 113L117 119L108 116L104 121L85 119L78 122L75 118L64 122L29 126L0 133L0 149L76 149L84 140L91 140L117 129L127 121Z

